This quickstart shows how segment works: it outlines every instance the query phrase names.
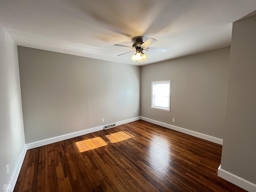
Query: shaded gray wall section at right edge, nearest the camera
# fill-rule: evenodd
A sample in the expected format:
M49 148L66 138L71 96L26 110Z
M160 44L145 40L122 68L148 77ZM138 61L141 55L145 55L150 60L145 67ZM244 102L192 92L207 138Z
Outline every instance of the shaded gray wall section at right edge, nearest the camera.
M256 184L256 16L234 22L221 168Z

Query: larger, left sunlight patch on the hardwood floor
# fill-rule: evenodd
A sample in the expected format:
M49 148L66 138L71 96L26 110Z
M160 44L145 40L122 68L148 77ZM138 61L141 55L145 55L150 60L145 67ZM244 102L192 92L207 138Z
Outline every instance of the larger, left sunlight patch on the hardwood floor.
M105 145L107 145L107 143L100 137L76 142L76 146L80 152L92 150Z

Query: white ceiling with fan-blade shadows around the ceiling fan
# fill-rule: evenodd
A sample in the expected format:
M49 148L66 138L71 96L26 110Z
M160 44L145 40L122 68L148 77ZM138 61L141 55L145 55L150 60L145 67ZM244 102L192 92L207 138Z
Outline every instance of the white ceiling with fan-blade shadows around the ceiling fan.
M232 22L256 0L0 0L0 23L16 44L126 64L132 38L158 41L141 65L230 45Z

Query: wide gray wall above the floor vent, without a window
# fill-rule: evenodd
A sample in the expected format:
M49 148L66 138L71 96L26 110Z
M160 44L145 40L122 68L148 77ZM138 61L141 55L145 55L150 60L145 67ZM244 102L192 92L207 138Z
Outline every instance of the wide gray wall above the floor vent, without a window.
M140 116L139 66L22 46L18 58L26 143Z

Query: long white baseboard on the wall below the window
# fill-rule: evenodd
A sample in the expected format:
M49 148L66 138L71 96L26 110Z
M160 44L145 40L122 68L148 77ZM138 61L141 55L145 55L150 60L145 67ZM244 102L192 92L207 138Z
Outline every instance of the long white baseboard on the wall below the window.
M216 138L216 137L209 136L209 135L206 135L206 134L198 133L198 132L195 132L195 131L184 129L184 128L177 127L177 126L174 126L174 125L170 125L170 124L167 124L167 123L163 123L163 122L160 122L160 121L152 120L152 119L149 119L149 118L146 118L146 117L141 117L140 119L144 120L144 121L147 121L147 122L150 122L150 123L154 123L156 125L160 125L160 126L165 127L165 128L169 128L169 129L172 129L172 130L176 130L178 132L182 132L182 133L185 133L185 134L188 134L188 135L191 135L191 136L195 136L195 137L198 137L198 138L210 141L210 142L214 142L214 143L217 143L217 144L220 144L220 145L223 144L223 140L220 139L220 138Z

